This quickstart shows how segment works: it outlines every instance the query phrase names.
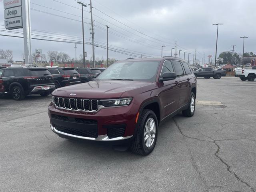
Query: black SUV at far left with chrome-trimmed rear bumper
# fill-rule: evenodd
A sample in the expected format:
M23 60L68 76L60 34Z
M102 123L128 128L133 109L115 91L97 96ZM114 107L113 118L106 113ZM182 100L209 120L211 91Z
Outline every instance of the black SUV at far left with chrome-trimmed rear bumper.
M46 68L8 67L0 70L4 92L14 100L22 100L28 94L48 96L54 89L54 79Z

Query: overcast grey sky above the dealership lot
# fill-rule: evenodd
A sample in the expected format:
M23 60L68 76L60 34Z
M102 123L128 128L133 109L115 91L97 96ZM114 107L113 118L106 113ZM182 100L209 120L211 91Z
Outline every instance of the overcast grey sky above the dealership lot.
M46 39L54 37L54 40L82 42L80 4L75 0L58 1L30 1L32 34L38 35L32 37ZM88 4L89 0L83 2ZM217 55L232 50L231 45L237 45L235 52L241 53L243 45L241 36L249 37L245 40L245 52L256 53L256 0L92 0L92 5L96 8L92 11L95 24L94 37L96 44L100 46L106 46L105 25L108 25L109 47L115 50L125 49L126 52L157 57L161 56L161 45L166 46L163 55L170 55L171 48L174 48L177 41L177 51L182 50L180 57L183 58L186 51L191 52L190 59L192 59L196 48L197 59L202 58L205 52L207 60L207 55L215 54L217 26L212 24L224 23L219 26ZM84 18L84 22L90 23L89 6L84 8ZM84 29L85 40L89 43L92 40L90 24L85 24ZM3 0L0 0L0 34L22 36L12 32L22 32L22 29L4 30ZM71 58L75 58L74 43L32 40L32 52L36 48L41 48L44 54L52 50L66 52ZM0 36L0 49L13 50L14 60L22 60L23 39ZM87 59L90 59L92 46L86 45L85 49ZM82 45L78 44L78 59L80 54L82 54ZM106 59L106 49L96 47L95 55L95 58L101 59L103 56ZM109 58L120 60L129 57L134 56L109 51Z

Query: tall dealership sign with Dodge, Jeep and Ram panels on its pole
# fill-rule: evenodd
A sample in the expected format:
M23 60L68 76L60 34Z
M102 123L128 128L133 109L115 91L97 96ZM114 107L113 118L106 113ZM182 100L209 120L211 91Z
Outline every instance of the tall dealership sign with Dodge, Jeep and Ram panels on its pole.
M4 0L4 26L8 30L23 28L25 64L32 64L30 0Z

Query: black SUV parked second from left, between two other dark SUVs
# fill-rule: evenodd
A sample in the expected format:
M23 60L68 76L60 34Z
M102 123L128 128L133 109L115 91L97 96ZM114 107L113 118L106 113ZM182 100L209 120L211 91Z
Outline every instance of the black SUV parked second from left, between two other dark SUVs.
M74 68L46 67L54 78L56 88L81 83L80 74Z

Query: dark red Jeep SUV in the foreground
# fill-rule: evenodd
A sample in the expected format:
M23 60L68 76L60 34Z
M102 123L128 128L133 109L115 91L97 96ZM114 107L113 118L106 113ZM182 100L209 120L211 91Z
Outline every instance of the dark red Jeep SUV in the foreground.
M195 111L196 78L179 58L119 61L94 81L58 88L48 107L62 138L129 142L133 152L154 149L164 119Z

